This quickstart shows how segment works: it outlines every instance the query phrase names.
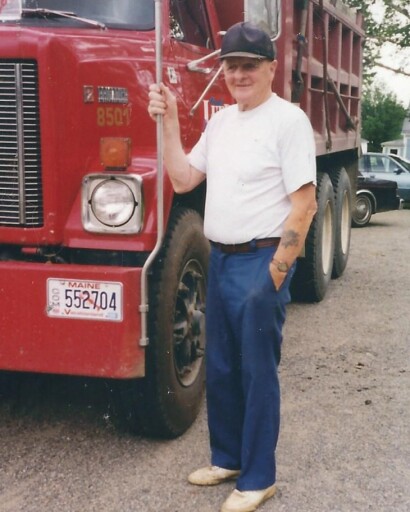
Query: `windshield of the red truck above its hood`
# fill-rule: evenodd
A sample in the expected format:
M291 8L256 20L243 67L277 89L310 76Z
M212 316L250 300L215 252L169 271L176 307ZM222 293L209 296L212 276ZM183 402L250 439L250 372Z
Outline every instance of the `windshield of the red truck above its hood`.
M154 28L154 0L23 0L22 8L61 11L112 28Z

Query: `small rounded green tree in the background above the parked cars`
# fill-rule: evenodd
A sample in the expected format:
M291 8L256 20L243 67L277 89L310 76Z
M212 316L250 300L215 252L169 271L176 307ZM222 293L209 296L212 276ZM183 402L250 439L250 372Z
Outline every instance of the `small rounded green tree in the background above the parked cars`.
M362 101L362 137L368 150L380 152L381 143L400 138L406 109L381 86L368 88Z

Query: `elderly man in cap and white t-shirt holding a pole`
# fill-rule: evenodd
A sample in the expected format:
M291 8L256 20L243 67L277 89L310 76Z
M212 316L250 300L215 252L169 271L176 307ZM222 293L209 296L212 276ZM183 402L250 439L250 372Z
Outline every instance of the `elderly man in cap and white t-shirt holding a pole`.
M209 121L187 155L175 97L152 85L148 111L164 116L164 163L176 192L207 180L207 406L211 465L195 485L236 479L221 512L247 512L275 493L281 354L289 283L312 218L310 123L272 92L272 42L250 23L224 36L220 58L236 104Z

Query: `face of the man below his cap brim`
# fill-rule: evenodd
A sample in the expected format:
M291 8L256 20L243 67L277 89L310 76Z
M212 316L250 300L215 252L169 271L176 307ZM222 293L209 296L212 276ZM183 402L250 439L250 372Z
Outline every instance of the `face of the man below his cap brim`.
M251 57L228 57L223 61L225 82L240 110L250 110L266 101L272 92L277 61Z

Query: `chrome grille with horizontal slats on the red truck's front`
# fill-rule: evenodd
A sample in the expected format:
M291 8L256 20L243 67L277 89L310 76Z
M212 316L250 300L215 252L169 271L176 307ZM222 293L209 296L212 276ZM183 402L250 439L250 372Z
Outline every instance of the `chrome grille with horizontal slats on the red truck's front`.
M37 64L0 60L0 226L43 224Z

